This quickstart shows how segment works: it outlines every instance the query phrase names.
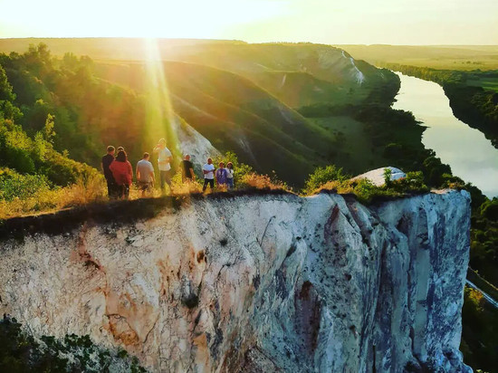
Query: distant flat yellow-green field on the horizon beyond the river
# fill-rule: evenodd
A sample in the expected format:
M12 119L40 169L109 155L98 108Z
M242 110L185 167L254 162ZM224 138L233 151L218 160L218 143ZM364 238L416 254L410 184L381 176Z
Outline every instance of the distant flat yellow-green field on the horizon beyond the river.
M399 63L446 70L498 69L498 45L335 45L374 65Z

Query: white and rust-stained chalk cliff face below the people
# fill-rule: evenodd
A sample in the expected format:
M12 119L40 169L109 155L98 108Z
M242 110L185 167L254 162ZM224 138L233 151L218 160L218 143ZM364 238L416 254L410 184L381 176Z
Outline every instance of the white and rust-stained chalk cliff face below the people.
M1 244L0 311L155 371L470 371L466 192L192 200Z

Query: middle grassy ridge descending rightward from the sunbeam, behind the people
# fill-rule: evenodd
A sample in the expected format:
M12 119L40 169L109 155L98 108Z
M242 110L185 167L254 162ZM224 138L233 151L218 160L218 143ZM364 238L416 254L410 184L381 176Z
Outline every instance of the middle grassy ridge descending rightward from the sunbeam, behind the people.
M108 68L110 73L108 74ZM144 66L101 65L108 79L142 90ZM173 107L216 148L235 150L263 173L300 185L325 164L335 137L239 75L185 62L165 62ZM297 170L297 171L296 171Z

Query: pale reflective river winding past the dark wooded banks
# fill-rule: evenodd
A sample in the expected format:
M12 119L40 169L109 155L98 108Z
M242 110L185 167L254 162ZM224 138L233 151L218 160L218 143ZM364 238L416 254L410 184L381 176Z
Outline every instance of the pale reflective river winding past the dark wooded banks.
M440 85L396 73L401 88L393 109L411 111L423 122L427 129L422 142L436 151L455 176L471 182L488 197L498 196L498 149L482 132L455 118Z

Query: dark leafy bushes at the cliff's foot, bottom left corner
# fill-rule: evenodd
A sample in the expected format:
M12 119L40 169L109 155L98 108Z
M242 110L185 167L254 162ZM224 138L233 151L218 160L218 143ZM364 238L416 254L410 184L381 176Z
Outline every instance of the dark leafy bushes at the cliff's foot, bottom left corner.
M126 351L125 351L126 352ZM146 372L136 358L122 350L103 349L88 335L66 335L63 340L26 333L15 319L0 320L0 371L25 372Z

